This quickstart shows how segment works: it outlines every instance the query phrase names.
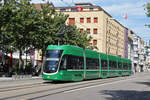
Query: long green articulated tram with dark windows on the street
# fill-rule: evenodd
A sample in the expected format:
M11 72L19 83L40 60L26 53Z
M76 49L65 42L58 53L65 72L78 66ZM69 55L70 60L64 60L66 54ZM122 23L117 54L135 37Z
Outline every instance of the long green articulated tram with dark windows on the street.
M82 81L131 75L131 60L71 45L49 45L43 62L43 79Z

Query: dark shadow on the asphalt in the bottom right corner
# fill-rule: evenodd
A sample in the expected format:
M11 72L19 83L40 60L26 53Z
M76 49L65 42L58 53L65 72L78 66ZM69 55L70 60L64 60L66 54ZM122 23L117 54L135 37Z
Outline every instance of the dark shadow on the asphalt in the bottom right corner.
M99 93L106 95L107 100L150 100L150 91L104 90Z

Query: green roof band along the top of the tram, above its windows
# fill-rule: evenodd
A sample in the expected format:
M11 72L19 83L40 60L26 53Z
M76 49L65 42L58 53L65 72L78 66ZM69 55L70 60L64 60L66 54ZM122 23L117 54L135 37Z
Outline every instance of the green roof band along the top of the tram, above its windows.
M82 55L81 53L79 53L78 51L82 51L83 52L83 48L80 48L78 46L73 46L73 45L48 45L47 50L68 50L68 53L70 51L70 53L72 54L76 54L76 55ZM99 53L97 51L93 51L90 49L85 49L85 53L86 53L86 57L90 57L90 58L98 58L99 54L101 59L104 60L112 60L112 61L119 61L119 62L131 62L130 59L127 58L121 58L118 56L114 56L114 55L108 55L105 53Z

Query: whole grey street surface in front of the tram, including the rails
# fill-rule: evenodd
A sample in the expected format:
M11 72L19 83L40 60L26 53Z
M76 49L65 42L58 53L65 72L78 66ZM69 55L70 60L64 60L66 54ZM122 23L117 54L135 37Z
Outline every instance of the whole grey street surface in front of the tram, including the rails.
M82 82L0 82L0 100L150 100L150 73Z

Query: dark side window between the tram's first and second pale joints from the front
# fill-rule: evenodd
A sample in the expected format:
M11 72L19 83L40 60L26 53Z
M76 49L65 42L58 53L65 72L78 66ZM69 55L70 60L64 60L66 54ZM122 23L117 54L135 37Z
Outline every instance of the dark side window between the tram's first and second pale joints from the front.
M86 59L86 68L87 69L98 69L99 67L99 60L93 58Z

